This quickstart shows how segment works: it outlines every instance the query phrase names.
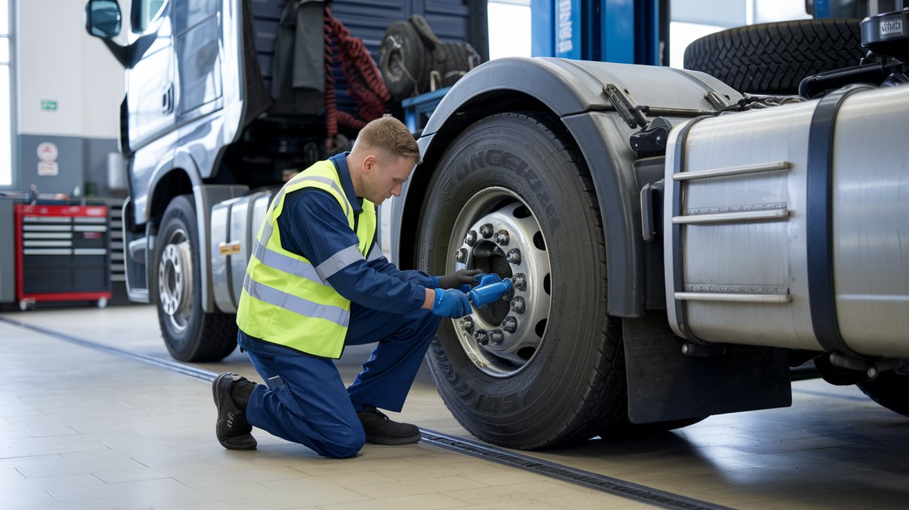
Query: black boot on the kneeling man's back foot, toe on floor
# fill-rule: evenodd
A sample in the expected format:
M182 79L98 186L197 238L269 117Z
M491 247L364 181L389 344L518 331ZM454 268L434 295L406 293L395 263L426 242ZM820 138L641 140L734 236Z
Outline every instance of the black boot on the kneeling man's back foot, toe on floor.
M246 387L237 387L241 385ZM254 382L230 372L219 374L212 383L212 394L218 408L215 435L228 450L255 450L255 437L250 434L253 425L246 421L246 403L252 388L255 388ZM238 403L231 395L232 390L240 390L237 393L246 395L245 401Z

